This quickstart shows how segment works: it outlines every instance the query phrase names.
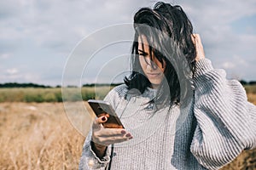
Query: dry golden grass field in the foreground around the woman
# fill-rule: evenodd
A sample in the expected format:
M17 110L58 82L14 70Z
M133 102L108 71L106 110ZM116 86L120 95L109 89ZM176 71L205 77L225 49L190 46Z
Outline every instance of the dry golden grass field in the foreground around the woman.
M256 94L248 99L256 104ZM78 169L83 142L62 103L0 103L2 170ZM222 169L256 169L256 150L243 151Z

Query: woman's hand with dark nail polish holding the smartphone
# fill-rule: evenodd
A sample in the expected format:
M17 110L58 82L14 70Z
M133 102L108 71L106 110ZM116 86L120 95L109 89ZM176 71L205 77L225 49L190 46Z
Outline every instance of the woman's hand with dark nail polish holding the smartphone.
M131 133L128 133L124 128L103 127L102 123L107 121L107 116L100 116L92 123L92 150L100 158L105 155L109 144L121 143L132 139Z

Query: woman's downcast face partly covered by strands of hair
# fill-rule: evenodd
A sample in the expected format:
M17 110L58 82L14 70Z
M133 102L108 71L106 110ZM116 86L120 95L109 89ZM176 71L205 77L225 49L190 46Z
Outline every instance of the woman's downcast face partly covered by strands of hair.
M151 82L152 88L158 88L160 82L165 77L164 71L166 69L166 63L162 65L158 59L152 54L152 60L150 59L150 51L148 47L147 38L142 35L138 38L138 54L139 61L143 68L143 72Z

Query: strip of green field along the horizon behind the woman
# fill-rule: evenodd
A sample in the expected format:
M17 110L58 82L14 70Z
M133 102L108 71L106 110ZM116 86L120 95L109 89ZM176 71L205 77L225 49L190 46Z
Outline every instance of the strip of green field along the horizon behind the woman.
M61 94L61 88L0 88L0 102L41 103L62 102L63 99L68 101L103 99L111 88L113 86L63 88L64 95ZM245 85L244 88L248 99L253 103L256 102L256 85Z

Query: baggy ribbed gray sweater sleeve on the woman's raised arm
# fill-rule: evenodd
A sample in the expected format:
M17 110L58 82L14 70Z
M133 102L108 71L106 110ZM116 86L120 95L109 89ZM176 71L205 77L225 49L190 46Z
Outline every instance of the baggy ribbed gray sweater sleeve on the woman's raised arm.
M218 169L256 147L256 107L241 83L227 80L209 59L197 62L194 81L197 126L190 150L201 165Z

